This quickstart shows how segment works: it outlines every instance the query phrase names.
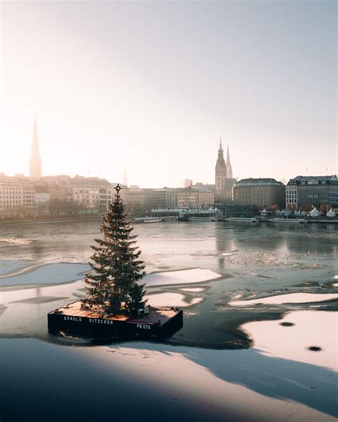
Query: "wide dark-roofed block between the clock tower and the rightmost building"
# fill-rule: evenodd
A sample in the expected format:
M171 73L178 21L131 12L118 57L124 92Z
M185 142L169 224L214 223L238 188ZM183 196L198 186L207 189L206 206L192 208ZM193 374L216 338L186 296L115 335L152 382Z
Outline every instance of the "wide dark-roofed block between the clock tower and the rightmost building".
M235 205L253 205L255 207L285 207L285 185L272 178L242 179L233 187Z

